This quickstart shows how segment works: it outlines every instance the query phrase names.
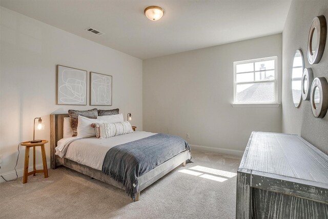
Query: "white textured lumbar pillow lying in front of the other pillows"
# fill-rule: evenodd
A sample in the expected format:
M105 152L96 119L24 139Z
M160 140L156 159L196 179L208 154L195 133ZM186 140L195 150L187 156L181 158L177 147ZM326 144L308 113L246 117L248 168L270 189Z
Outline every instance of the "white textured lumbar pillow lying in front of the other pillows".
M100 138L109 138L116 135L132 133L132 126L128 121L121 123L99 123ZM77 132L78 133L78 132Z

